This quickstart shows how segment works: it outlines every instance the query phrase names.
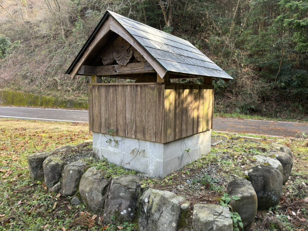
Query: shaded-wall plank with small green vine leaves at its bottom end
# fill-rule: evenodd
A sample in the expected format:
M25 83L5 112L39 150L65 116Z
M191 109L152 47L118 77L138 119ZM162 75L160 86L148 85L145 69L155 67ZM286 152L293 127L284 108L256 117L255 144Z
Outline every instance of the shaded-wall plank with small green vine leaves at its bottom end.
M108 86L108 130L117 131L117 95L116 95L116 86L109 85ZM108 132L109 133L109 132ZM112 133L113 135L117 135L117 133Z

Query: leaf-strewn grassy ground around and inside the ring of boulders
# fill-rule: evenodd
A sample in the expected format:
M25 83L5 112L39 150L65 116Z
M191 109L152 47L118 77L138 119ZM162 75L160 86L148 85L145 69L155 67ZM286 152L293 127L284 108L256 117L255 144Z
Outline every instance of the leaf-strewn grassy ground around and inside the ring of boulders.
M294 165L282 200L271 211L258 212L247 230L308 230L307 140L254 136L261 138L255 142L234 138L245 134L213 132L213 135L227 139L212 148L210 154L162 180L144 178L142 188L173 191L192 203L218 204L226 185L235 178L245 177L244 171L256 164L253 155L266 155L264 150L270 150L274 143L286 144L293 151ZM91 138L87 124L0 120L0 230L136 230L134 224L105 224L100 213L87 212L82 204L70 205L69 199L52 195L41 182L30 177L26 161L29 154L80 144ZM91 143L83 148L90 152ZM106 177L125 173L104 161L91 161Z

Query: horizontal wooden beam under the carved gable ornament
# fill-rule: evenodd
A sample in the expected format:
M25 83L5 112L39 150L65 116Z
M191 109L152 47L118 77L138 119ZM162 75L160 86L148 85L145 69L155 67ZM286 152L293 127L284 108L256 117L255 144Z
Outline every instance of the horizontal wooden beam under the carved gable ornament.
M97 67L96 74L101 76L106 75L125 75L125 74L142 74L142 73L155 73L154 69L144 70L144 63L128 63L125 66L108 65Z

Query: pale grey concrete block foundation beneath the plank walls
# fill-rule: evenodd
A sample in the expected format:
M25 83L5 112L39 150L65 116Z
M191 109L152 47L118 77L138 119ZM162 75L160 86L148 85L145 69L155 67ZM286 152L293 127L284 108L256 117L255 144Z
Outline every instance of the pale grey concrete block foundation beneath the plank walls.
M93 132L93 156L162 178L211 152L211 133L208 130L162 144Z

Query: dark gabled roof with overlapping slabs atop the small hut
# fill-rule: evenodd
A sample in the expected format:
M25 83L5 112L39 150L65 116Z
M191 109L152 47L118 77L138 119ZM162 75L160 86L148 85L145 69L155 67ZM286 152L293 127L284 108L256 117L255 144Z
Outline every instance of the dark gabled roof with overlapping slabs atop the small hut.
M120 26L120 29L124 31L122 31L122 34L120 35L123 37L123 33L126 33L127 36L132 38L132 41L128 42L146 58L162 78L167 72L169 72L182 75L233 79L187 40L157 30L151 26L126 18L109 10L106 11L83 48L79 51L79 54L67 69L66 74L72 75L73 68L76 65L79 65L79 68L81 67L82 62L80 59L83 58L84 60L87 58L83 57L85 51L89 49L90 44L95 40L101 27L107 21L109 16L111 16L115 21L114 23L118 26L110 25L110 30L120 34ZM139 49L136 47L136 44L138 44ZM93 49L93 44L91 46ZM151 60L148 60L147 57ZM77 72L75 71L73 75Z

